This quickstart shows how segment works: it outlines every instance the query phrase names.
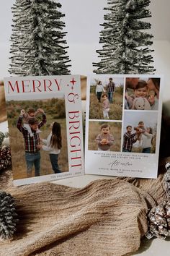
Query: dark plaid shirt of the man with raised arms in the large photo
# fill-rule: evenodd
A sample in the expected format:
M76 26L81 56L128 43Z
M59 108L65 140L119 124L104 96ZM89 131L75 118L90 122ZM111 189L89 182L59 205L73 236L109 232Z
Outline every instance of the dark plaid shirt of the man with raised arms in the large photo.
M22 135L24 137L24 147L25 152L27 153L37 153L40 149L37 148L37 145L40 144L40 137L39 134L37 134L36 131L32 131L33 137L30 137L29 132L27 129L22 127L22 116L19 116L19 119L17 121L17 128L19 129L19 132L22 132ZM46 123L46 116L45 114L42 114L42 121L40 124L38 124L38 129L42 127Z

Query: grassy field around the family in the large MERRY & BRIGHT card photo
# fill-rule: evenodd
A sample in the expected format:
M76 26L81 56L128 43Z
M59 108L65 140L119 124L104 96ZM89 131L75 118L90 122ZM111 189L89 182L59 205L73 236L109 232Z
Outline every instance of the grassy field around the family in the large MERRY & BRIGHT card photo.
M17 129L17 119L20 111L23 108L25 111L28 108L42 108L45 111L47 117L47 123L40 128L40 137L46 139L50 134L50 124L53 121L57 121L61 124L62 132L62 149L58 157L58 164L61 171L68 171L68 150L66 140L66 109L64 99L52 98L46 100L34 100L34 101L8 101L6 103L7 116L9 121L9 137L10 145L12 149L12 172L14 179L27 178L26 162L24 158L24 139L22 133ZM42 114L37 116L37 119L41 121ZM41 153L41 169L40 175L53 174L51 168L50 158L47 151L40 150ZM32 170L32 177L35 176L34 168Z

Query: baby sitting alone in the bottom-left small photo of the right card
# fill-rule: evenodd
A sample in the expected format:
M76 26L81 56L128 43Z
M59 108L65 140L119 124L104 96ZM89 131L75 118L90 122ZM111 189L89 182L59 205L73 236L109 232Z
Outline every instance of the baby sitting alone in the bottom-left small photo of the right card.
M109 124L102 124L100 127L100 133L96 137L98 150L110 151L111 146L114 143L114 137L110 134Z

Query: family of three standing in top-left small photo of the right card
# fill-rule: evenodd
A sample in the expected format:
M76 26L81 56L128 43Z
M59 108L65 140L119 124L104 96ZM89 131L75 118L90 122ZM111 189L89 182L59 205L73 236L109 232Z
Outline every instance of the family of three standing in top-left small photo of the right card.
M115 92L115 82L113 82L112 77L109 78L109 83L106 88L99 81L96 86L96 95L99 102L102 98L102 110L104 119L109 119L109 103L113 103L113 93ZM104 94L102 94L104 93Z

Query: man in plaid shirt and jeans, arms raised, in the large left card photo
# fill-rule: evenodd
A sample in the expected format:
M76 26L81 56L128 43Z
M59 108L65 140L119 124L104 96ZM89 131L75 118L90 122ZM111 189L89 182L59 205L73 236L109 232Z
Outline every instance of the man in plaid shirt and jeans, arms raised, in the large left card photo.
M22 135L24 137L27 177L32 176L33 166L35 166L35 176L40 176L40 149L37 148L37 145L40 144L40 137L39 133L37 133L37 128L40 129L40 127L42 127L46 123L46 116L41 108L39 108L39 112L42 114L42 121L40 121L40 123L35 118L29 119L29 124L33 136L30 136L28 130L23 127L23 109L20 112L19 119L17 121L17 129L19 129L19 132L22 132Z

